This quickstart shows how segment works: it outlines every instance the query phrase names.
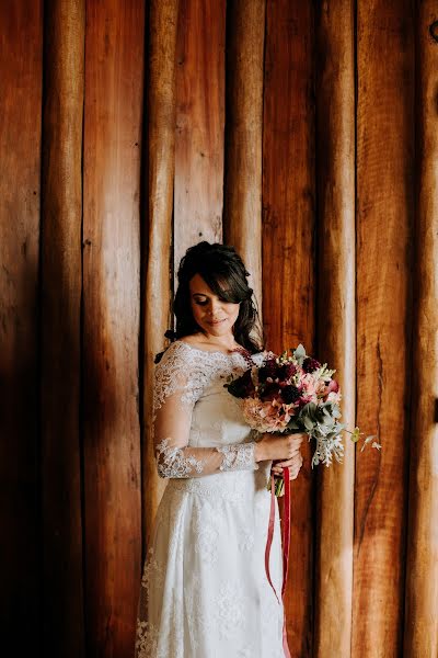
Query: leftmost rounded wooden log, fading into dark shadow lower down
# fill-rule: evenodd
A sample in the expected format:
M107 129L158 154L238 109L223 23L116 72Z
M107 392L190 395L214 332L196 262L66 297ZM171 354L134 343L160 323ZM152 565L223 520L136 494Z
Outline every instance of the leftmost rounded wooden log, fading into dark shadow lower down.
M84 656L80 474L83 0L45 5L42 185L44 648ZM68 376L66 376L68 373Z

